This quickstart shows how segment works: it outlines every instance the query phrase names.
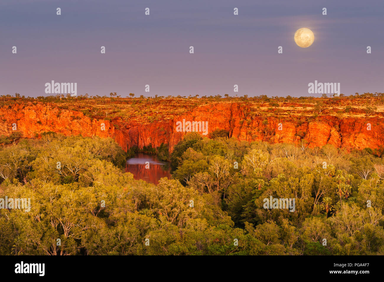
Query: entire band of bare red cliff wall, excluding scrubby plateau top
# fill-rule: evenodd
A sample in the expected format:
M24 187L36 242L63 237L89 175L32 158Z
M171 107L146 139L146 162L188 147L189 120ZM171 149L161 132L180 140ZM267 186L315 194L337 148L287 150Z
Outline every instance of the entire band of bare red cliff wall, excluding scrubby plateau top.
M208 135L199 132L207 137L215 129L224 129L230 132L230 137L238 140L293 144L305 140L310 148L332 144L347 150L361 150L367 147L378 149L384 145L384 118L381 117L339 119L332 115L319 115L310 121L300 121L299 118L262 117L251 113L246 103L217 102L197 106L165 121L143 124L129 119L126 122L121 119L91 119L82 112L61 109L50 103L15 103L0 108L3 121L0 134L9 135L13 123L16 123L17 130L27 138L53 131L65 135L112 137L124 150L134 145L139 148L148 145L159 147L164 143L169 144L172 151L186 133L178 132L176 123L185 119L208 122ZM102 130L102 123L105 130Z

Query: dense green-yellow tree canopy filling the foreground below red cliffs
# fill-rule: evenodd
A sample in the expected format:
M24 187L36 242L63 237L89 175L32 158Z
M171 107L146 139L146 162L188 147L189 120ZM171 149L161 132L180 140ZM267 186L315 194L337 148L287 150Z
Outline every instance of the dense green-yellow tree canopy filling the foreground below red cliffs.
M175 179L153 185L122 172L110 138L20 140L0 151L0 198L31 210L0 210L0 254L384 254L384 165L371 153L190 133ZM264 209L270 195L295 198L295 212Z

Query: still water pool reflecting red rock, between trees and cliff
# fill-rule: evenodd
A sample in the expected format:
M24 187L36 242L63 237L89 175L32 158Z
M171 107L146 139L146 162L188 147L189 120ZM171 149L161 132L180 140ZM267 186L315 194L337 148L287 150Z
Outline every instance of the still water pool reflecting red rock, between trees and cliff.
M149 169L146 169L146 162L149 162ZM169 163L162 162L157 155L136 153L133 158L127 159L125 171L131 172L136 180L153 184L158 184L162 177L170 179Z

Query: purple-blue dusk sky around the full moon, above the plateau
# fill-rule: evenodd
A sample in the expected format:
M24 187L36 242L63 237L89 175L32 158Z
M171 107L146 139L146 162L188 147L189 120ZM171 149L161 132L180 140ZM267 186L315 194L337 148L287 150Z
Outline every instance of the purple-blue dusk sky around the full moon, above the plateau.
M320 97L315 80L384 92L383 15L382 0L2 0L0 95L51 95L51 80L121 97ZM301 27L308 48L293 40Z

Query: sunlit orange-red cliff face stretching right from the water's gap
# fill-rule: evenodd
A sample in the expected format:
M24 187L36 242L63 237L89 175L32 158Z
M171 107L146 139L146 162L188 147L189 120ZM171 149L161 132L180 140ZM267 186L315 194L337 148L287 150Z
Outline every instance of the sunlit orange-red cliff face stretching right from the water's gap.
M171 125L170 147L173 148L185 133L175 132L177 120L201 120L209 122L209 132L225 129L230 137L246 141L300 144L309 148L334 145L346 150L378 149L384 145L384 118L343 118L331 115L319 116L311 122L295 119L279 119L273 116L250 118L250 109L239 103L218 103L214 107L200 107L187 115L174 119Z

